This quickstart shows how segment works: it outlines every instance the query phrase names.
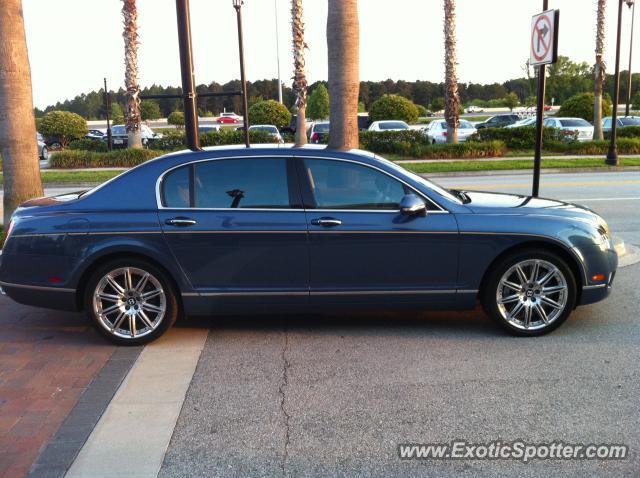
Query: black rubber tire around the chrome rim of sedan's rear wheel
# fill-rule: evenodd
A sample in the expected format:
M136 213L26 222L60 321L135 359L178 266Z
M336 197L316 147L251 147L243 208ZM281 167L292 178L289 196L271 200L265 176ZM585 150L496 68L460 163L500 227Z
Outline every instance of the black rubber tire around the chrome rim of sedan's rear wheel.
M126 269L126 268L130 268L132 270L142 271L150 274L150 277L155 279L156 283L161 286L162 299L159 299L159 300L162 300L161 306L164 307L164 315L159 319L158 323L154 325L153 329L149 327L149 330L144 332L142 335L135 336L135 333L134 333L134 334L131 334L133 336L123 337L118 335L118 331L120 331L121 329L117 329L115 333L107 330L107 325L103 320L101 320L101 318L99 317L99 314L96 312L94 308L94 306L96 305L94 303L94 294L96 293L98 286L101 284L101 281L107 274L114 271ZM150 280L151 279L148 279L148 281ZM133 281L130 281L130 282L133 282ZM151 283L146 287L151 287L154 284L155 283ZM143 290L145 290L144 287L143 287ZM112 291L115 291L115 289L112 289ZM124 312L124 309L123 309L124 307L126 307L127 309L130 307L128 304L126 304L123 301L121 301L121 303L122 305L118 310L122 312ZM147 302L145 301L144 304L146 303ZM106 302L106 304L113 305L113 306L117 305L115 301L109 301L109 302ZM139 306L136 305L135 307L136 308L140 307L140 309L144 309L144 305L142 304L143 303L140 302L140 305ZM153 304L149 302L149 305L153 305ZM160 337L162 334L164 334L175 323L179 313L179 304L176 296L176 290L175 290L175 287L173 286L173 282L169 279L167 274L162 269L152 264L151 262L137 259L137 258L117 259L98 267L93 272L93 274L91 274L91 277L87 283L87 288L86 288L85 297L84 297L84 306L85 306L87 315L91 320L91 323L93 324L93 326L96 328L96 330L102 336L108 339L110 342L113 342L117 345L143 345L143 344L147 344L149 342L154 341L155 339ZM153 305L153 306L156 307L156 305ZM102 307L104 307L104 305L102 305ZM118 314L118 317L120 317L119 315L120 312L118 312L118 310L114 311L114 314ZM145 313L145 312L142 312L142 313ZM152 312L152 313L155 313L155 312ZM136 316L136 317L139 317L139 316ZM117 318L113 320L112 325L116 322L116 320ZM134 324L144 325L144 322L140 318L134 318L133 321L134 321ZM136 330L137 325L132 328ZM143 331L144 331L144 328L143 328ZM125 331L123 330L122 332L124 333Z

